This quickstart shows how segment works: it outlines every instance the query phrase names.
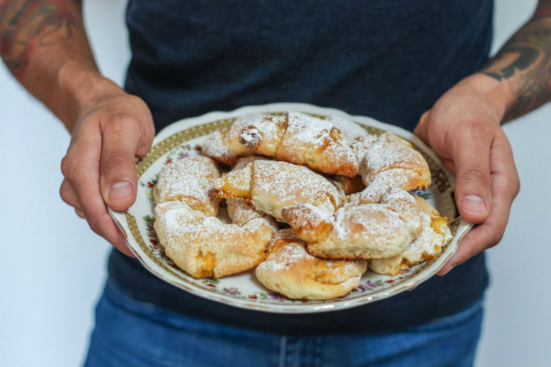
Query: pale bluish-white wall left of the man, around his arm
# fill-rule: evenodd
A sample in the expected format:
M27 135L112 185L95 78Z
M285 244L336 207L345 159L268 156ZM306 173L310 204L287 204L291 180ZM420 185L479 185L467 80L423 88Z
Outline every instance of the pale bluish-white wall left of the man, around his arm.
M85 1L98 64L123 81L123 0ZM59 197L70 136L0 67L0 366L77 366L110 246Z

